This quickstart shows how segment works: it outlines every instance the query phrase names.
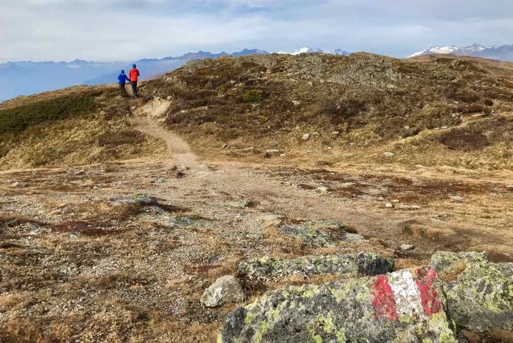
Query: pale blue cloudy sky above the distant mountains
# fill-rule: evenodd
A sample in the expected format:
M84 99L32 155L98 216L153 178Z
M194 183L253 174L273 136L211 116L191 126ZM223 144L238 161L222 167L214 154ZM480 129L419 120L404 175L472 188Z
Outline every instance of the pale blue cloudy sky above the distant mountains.
M513 43L511 0L0 0L0 63Z

